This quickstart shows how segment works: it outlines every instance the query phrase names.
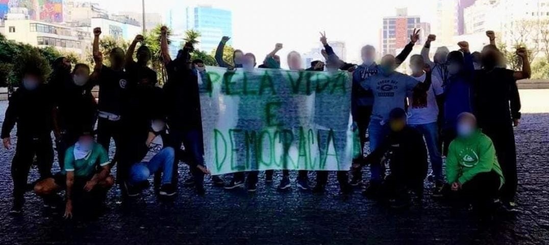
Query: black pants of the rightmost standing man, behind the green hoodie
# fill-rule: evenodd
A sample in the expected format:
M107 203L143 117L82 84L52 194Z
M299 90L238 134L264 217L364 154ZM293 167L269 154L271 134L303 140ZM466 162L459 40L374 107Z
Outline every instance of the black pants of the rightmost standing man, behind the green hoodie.
M483 127L483 133L488 135L494 142L497 161L500 163L505 184L501 189L501 200L504 202L514 201L517 193L517 149L514 139L512 124L490 125Z

